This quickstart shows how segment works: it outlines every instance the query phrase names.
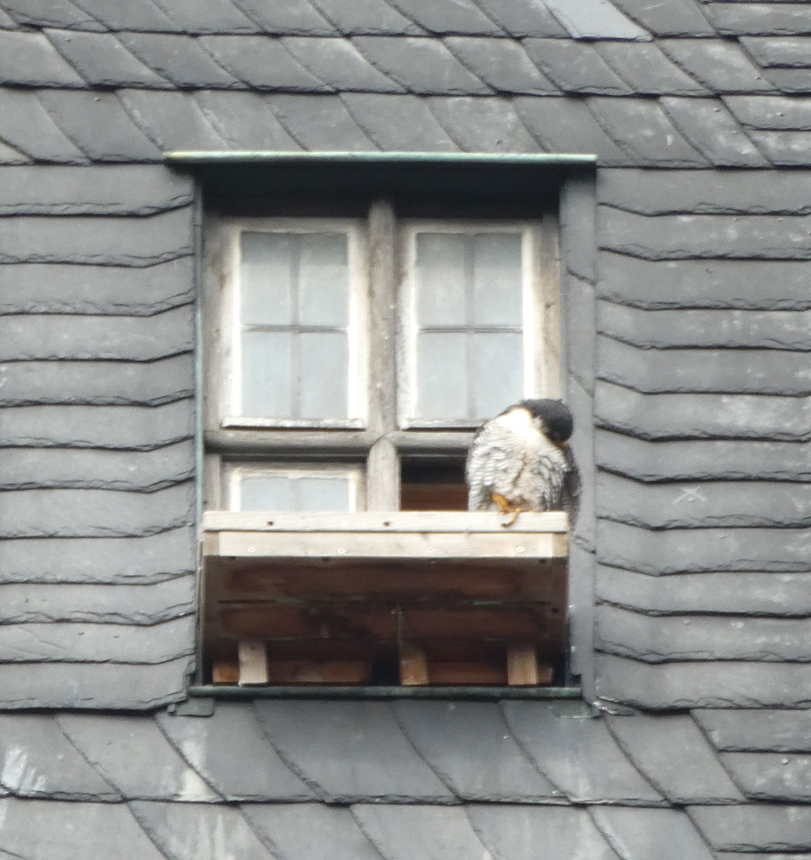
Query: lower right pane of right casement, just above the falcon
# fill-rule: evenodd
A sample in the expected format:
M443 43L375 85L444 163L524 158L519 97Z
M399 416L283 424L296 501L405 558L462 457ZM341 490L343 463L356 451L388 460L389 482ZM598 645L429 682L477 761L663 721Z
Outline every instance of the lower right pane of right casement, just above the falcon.
M521 335L473 335L474 418L492 418L523 397Z

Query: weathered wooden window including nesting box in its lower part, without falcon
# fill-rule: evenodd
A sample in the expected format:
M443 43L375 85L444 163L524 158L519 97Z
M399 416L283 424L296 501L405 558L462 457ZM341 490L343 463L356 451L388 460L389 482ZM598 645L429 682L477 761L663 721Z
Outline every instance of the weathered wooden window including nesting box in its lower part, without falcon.
M554 205L207 201L207 685L567 685L563 513L467 513L560 396Z

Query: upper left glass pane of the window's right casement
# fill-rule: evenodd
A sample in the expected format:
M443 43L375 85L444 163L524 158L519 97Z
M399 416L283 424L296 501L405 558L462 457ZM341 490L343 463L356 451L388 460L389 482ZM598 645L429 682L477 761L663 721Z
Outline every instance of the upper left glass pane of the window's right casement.
M416 241L418 325L464 325L468 237L460 233L418 233Z

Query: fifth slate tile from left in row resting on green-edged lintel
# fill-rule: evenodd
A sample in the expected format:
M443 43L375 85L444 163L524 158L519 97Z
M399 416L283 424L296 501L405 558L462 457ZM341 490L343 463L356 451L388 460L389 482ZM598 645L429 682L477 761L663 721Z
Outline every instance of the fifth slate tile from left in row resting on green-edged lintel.
M462 150L472 152L537 152L535 138L506 99L473 95L427 100L431 114Z

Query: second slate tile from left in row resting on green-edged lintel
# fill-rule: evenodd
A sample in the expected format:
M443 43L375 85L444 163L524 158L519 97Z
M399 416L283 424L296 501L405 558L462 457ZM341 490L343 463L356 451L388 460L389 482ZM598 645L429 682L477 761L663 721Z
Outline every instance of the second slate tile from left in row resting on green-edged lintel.
M201 89L195 101L214 131L235 150L300 149L258 93Z

